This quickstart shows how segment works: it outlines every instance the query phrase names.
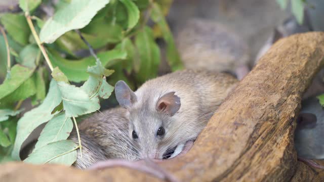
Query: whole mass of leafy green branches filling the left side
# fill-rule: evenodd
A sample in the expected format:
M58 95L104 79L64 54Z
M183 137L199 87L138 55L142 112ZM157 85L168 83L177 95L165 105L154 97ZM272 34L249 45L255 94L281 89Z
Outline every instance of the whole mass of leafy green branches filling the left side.
M7 48L7 54L0 49L0 64L6 60L2 55L10 56L7 61L12 59L15 63L6 63L11 78L0 84L0 161L21 160L24 141L37 126L46 123L34 150L24 161L73 164L77 149L82 155L77 117L98 111L100 100L110 97L111 84L117 80L134 86L157 75L160 51L155 41L156 28L167 42L172 70L181 69L162 13L171 1L166 0L167 6L164 1L71 0L46 5L55 9L52 15L35 11L45 6L42 0L20 0L24 14L0 16L8 35L0 37ZM155 23L154 29L147 26L150 19ZM38 106L26 109L20 116L20 107L28 98ZM77 141L68 140L73 125Z

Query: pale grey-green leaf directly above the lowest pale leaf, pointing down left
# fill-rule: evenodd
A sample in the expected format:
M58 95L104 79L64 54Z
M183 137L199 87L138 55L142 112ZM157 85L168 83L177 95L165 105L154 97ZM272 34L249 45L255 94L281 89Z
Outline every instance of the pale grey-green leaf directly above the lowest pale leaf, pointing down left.
M65 116L65 113L55 115L44 127L39 135L38 141L35 145L37 150L49 143L65 140L72 131L73 123L71 118Z

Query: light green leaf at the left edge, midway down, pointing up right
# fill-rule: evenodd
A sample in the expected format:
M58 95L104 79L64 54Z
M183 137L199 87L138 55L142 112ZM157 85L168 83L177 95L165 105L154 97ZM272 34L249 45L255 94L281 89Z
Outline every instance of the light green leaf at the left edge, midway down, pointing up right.
M13 93L21 84L26 81L31 74L33 73L32 69L23 67L16 64L11 69L11 78L6 79L3 84L0 85L0 99L8 96Z

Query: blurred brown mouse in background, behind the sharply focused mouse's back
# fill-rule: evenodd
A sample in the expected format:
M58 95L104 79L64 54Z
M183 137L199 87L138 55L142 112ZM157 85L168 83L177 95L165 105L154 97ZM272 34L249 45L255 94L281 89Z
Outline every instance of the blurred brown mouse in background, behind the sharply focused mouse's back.
M247 42L222 24L188 20L176 34L176 43L186 68L230 72L239 80L250 71Z

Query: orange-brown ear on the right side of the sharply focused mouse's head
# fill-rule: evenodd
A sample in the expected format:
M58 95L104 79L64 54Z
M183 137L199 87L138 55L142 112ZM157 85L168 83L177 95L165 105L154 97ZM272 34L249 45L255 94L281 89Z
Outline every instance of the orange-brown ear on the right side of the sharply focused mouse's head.
M170 116L178 112L181 106L180 98L174 94L175 92L170 92L160 97L155 106L156 110Z

